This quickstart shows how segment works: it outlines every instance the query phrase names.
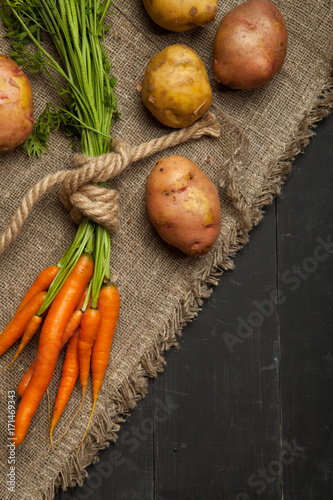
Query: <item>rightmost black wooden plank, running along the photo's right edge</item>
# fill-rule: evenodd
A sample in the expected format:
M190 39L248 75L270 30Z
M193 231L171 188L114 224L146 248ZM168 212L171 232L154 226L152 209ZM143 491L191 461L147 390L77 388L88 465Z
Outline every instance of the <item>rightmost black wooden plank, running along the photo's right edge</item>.
M333 115L278 200L281 397L285 498L333 493Z

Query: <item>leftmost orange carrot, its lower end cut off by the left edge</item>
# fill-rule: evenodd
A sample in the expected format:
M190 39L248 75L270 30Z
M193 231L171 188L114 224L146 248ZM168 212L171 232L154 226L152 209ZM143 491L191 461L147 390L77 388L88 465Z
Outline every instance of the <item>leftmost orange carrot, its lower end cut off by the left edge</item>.
M9 347L22 337L31 317L38 312L45 297L46 292L38 292L8 323L0 335L0 355L6 352Z

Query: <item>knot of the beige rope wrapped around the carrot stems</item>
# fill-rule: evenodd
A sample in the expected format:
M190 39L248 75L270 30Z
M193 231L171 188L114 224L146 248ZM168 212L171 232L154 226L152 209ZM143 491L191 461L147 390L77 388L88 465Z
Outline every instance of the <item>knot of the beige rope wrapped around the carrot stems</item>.
M91 184L105 182L120 174L131 162L132 148L125 141L114 140L113 151L101 156L77 154L72 159L75 170L62 184L60 199L77 224L86 217L108 231L119 227L119 194L114 189Z

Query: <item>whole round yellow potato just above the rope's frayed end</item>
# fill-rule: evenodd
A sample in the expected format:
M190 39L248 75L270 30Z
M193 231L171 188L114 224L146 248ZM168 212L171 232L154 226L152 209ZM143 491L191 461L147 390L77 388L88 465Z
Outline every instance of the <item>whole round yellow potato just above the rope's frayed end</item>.
M203 62L194 50L181 44L170 45L150 59L141 96L155 118L173 128L191 125L212 102Z

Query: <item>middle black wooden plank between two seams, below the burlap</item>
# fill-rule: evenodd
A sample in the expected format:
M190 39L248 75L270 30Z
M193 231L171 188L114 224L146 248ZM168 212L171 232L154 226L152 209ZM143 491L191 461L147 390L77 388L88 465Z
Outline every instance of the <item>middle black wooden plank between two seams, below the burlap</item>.
M279 470L260 478L280 456L275 221L272 206L154 384L176 408L155 433L157 500L280 495Z

